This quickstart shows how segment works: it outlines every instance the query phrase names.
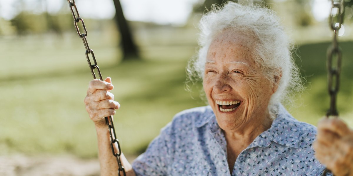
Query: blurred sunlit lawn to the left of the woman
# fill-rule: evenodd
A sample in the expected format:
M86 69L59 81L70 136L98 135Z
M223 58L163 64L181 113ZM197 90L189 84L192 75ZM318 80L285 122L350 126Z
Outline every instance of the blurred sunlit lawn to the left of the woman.
M0 71L0 154L70 152L95 157L95 129L83 103L92 76L80 39L56 38L59 49L45 45L45 38L35 37L3 40L0 45L10 42L12 46L25 47L22 40L34 40L34 44L24 52L9 47L10 51L4 51L4 58L11 57L5 60L9 66ZM112 77L112 92L121 104L115 115L115 128L122 149L136 153L175 113L204 105L184 90L185 65L195 46L143 48L142 54L149 57L117 64L119 52L112 43L104 46L101 41L103 46L93 44L91 48L98 56L103 76ZM177 53L177 49L184 52ZM163 55L154 56L161 51ZM194 93L193 97L198 95Z

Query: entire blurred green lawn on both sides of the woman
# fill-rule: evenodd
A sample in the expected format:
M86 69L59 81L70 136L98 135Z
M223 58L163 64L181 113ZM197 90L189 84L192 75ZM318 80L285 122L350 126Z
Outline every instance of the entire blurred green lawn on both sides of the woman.
M204 105L197 89L193 93L184 90L186 62L196 47L191 36L190 33L170 36L161 45L140 43L144 59L120 64L120 52L110 34L89 36L102 74L112 77L115 86L112 93L121 104L114 124L124 153L141 152L175 113ZM173 38L187 43L172 45ZM353 125L349 119L353 117L353 61L349 58L353 55L349 49L352 44L341 43L344 57L338 96L341 116L350 125ZM327 46L327 43L303 45L297 52L301 70L309 76L310 84L306 84L308 90L297 100L298 107L290 111L295 118L311 124L316 124L329 107ZM96 157L95 128L83 103L92 76L81 40L71 34L2 38L0 52L0 155L44 152Z

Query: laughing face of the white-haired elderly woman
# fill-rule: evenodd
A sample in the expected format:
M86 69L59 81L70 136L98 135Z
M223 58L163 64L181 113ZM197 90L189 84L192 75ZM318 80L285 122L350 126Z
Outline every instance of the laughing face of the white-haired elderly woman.
M225 30L209 47L203 88L223 130L241 130L269 117L267 106L277 87L257 67L254 41Z

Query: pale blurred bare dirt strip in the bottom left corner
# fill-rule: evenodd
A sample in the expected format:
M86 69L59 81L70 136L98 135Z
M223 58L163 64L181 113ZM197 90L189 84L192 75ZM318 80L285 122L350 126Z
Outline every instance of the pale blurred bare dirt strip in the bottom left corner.
M134 157L128 157L133 161ZM65 156L0 156L0 175L4 176L99 176L98 159Z

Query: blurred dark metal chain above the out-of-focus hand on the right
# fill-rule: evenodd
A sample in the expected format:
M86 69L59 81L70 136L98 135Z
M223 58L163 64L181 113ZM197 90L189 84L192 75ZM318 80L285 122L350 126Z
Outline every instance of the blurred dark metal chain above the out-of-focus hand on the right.
M344 16L344 5L343 0L331 0L331 10L329 16L329 26L333 32L332 44L327 49L327 78L328 78L328 92L330 95L330 109L326 113L326 117L338 117L338 111L336 106L337 93L340 86L340 73L341 73L341 60L342 60L342 49L338 45L338 33L341 29ZM334 14L333 10L337 12ZM336 19L335 19L336 17ZM336 60L334 62L334 60ZM324 170L323 175L331 172L327 168Z

